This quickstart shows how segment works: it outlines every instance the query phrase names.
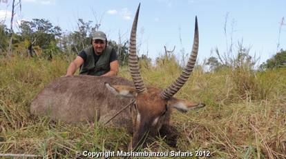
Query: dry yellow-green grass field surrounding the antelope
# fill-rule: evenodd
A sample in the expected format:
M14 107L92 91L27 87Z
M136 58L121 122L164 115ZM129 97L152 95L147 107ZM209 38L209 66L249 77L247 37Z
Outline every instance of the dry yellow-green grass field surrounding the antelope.
M0 153L75 158L75 151L127 149L131 136L124 129L99 123L66 125L30 114L32 99L64 75L72 59L0 59ZM144 151L209 150L211 158L286 158L286 70L202 70L196 67L175 96L207 107L186 114L173 111L171 121L180 132L176 149L159 138ZM145 83L167 87L180 67L143 66L141 73ZM128 67L120 68L120 76L130 79Z

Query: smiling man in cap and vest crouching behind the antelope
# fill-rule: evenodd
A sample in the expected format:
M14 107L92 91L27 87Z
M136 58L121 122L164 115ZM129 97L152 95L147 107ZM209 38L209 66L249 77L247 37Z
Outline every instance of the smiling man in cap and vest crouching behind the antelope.
M119 66L115 50L107 45L106 34L95 32L91 41L92 45L79 52L77 57L68 66L66 76L75 74L79 67L79 74L93 76L116 75Z

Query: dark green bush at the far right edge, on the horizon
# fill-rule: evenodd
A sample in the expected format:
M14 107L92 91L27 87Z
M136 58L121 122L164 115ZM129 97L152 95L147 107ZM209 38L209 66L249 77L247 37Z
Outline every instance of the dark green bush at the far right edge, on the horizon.
M276 69L286 67L286 51L280 50L273 57L268 59L266 63L260 65L260 70Z

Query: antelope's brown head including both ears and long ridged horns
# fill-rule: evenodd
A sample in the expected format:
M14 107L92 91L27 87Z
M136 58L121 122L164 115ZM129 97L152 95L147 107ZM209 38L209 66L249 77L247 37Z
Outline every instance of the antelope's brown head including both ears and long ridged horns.
M204 107L203 103L192 103L187 100L174 98L173 95L187 82L193 67L196 63L198 54L198 21L196 17L195 35L193 40L193 49L187 66L184 67L182 74L166 89L158 87L145 87L140 75L139 65L136 56L136 30L140 5L137 8L133 26L131 30L129 45L129 60L131 76L135 87L124 85L110 85L106 87L114 94L127 98L135 98L135 103L131 107L133 119L133 138L131 139L131 149L140 145L144 137L155 136L162 125L169 124L171 107L180 112L187 112L191 109Z

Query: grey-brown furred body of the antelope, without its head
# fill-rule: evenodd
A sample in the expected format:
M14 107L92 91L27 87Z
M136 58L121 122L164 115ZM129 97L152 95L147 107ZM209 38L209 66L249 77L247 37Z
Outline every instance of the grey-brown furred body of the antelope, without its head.
M101 122L111 118L131 99L115 96L106 89L104 83L113 85L130 85L133 83L119 76L65 76L57 78L35 97L30 112L36 115L48 115L52 120L65 123L95 121ZM111 123L124 125L128 120L128 111L115 117ZM117 120L122 118L122 120Z

